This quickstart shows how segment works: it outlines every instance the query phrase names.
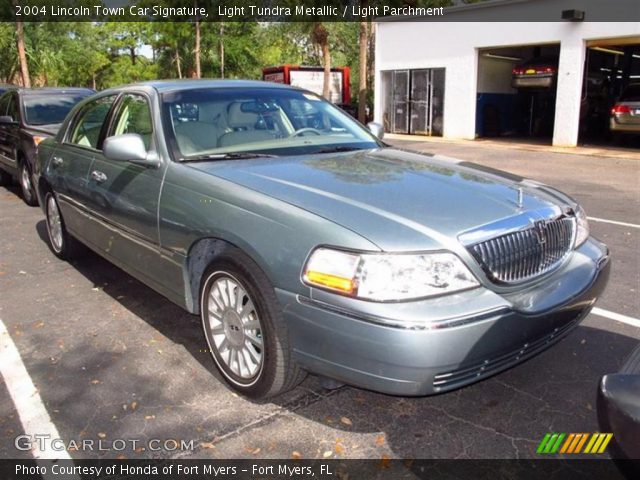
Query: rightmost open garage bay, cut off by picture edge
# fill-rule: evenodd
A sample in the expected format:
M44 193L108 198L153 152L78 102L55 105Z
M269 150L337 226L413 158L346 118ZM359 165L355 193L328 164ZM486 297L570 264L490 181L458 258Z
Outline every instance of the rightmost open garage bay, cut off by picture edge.
M640 38L587 44L578 142L640 148Z

